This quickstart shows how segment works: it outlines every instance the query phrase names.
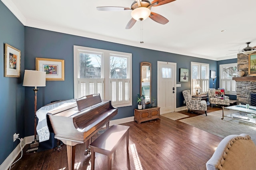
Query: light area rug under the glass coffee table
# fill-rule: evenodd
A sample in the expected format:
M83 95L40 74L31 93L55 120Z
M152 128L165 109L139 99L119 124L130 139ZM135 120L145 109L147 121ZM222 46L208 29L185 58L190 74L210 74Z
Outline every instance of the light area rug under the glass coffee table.
M231 113L237 113L237 111L224 110L224 115ZM200 128L211 134L215 134L221 138L230 134L249 134L254 143L256 143L256 126L254 124L229 117L224 117L222 120L222 110L207 113L207 115L208 116L200 115L179 121Z

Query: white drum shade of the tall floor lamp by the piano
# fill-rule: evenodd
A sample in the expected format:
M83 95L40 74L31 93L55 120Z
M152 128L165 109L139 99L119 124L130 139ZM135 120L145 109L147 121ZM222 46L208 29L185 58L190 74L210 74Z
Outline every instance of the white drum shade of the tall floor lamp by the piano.
M35 71L35 70L25 70L23 86L29 87L43 87L46 82L46 72Z

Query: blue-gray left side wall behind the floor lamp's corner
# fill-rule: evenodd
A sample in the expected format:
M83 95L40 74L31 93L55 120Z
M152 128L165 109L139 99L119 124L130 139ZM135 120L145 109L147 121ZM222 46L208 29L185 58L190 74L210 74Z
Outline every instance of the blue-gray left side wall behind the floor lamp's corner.
M21 77L4 77L4 44L21 51ZM18 145L13 134L24 137L24 26L0 1L0 164Z

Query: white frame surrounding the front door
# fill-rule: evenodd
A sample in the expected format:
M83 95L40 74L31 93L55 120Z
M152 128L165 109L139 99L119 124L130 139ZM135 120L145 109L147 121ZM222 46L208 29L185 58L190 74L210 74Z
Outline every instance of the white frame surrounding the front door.
M177 106L176 106L176 103L177 103L177 101L176 101L176 99L177 99L177 87L176 87L176 83L177 83L177 63L172 63L172 62L166 62L166 61L157 61L157 99L159 99L160 98L160 96L159 96L159 94L160 94L160 89L159 89L159 87L160 87L160 82L159 82L159 77L160 77L160 70L159 70L159 68L160 68L160 64L170 64L170 65L174 65L174 67L175 67L175 69L174 69L174 87L175 87L175 90L174 90L174 92L175 92L175 94L174 94L174 111L176 112L177 111ZM158 100L159 101L159 100ZM160 113L160 115L161 115L161 113Z

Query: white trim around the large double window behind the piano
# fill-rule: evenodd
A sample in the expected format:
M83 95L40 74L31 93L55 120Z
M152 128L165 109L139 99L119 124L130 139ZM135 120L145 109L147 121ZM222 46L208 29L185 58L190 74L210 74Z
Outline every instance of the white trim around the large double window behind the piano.
M110 56L118 56L118 57L127 57L127 79L130 79L130 89L129 89L129 98L130 102L125 104L117 104L114 105L115 107L125 107L125 106L132 106L132 53L125 53L125 52L119 52L119 51L111 51L111 50L105 50L105 49L97 49L97 48L91 48L91 47L84 47L84 46L78 46L74 45L74 98L76 99L78 97L78 73L79 73L79 53L80 52L91 52L96 54L102 55L102 65L101 65L101 73L102 78L104 79L104 99L110 100L110 71L109 71L109 65L110 65Z

